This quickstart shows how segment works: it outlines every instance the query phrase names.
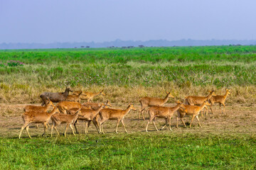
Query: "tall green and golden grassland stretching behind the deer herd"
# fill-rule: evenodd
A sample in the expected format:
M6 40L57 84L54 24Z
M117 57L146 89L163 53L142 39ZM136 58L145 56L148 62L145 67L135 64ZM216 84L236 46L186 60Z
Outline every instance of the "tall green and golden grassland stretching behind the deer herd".
M25 64L9 67L8 60ZM256 98L255 46L1 50L0 63L2 103L38 103L43 91L63 91L65 82L77 90L105 89L112 102L123 96L123 103L164 91L183 98L225 88L234 91L230 102Z

